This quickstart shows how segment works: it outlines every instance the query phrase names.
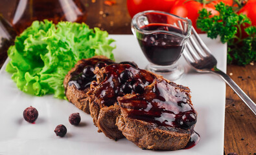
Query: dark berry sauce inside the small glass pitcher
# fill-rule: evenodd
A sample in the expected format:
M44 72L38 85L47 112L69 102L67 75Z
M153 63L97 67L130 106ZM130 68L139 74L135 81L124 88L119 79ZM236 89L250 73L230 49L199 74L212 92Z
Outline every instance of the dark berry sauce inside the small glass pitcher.
M149 24L141 27L141 29L147 31L165 30L183 34L182 30L165 24ZM156 65L172 65L180 58L183 50L181 37L164 32L145 35L138 41L148 61Z

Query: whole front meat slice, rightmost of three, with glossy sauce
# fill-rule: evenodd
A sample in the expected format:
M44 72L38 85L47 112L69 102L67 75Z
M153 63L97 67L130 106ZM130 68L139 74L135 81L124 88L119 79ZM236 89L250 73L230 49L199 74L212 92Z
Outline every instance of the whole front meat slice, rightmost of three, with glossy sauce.
M157 78L142 94L117 98L121 115L116 125L143 149L183 149L196 123L190 98L189 88Z

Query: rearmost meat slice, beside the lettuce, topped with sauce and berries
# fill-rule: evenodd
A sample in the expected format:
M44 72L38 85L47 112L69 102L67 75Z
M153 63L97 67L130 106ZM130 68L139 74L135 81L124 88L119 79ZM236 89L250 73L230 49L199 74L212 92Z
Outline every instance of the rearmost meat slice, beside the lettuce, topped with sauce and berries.
M105 67L111 63L113 63L113 61L105 56L94 56L89 59L78 61L75 67L67 73L64 79L65 95L67 96L67 99L76 107L89 114L89 98L87 98L86 93L89 90L91 81L96 80L96 76L93 74L95 65L98 67ZM86 67L91 68L92 70L83 73L84 68ZM92 73L91 75L88 74L90 71Z

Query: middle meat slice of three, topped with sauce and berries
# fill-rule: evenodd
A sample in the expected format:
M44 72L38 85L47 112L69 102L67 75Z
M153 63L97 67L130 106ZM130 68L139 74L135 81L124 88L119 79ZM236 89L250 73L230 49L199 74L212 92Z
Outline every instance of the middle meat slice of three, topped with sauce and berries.
M97 81L91 83L91 89L87 92L93 122L98 131L103 132L108 138L122 138L122 132L115 125L120 114L117 97L134 92L135 83L150 85L156 76L127 64L96 68L95 74Z

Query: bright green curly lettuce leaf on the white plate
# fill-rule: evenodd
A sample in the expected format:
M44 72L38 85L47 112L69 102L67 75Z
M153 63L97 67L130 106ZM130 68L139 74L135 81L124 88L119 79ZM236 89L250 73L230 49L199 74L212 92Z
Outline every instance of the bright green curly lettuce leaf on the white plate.
M75 63L96 55L114 59L108 32L82 23L34 21L8 49L6 71L28 94L64 99L63 81Z

